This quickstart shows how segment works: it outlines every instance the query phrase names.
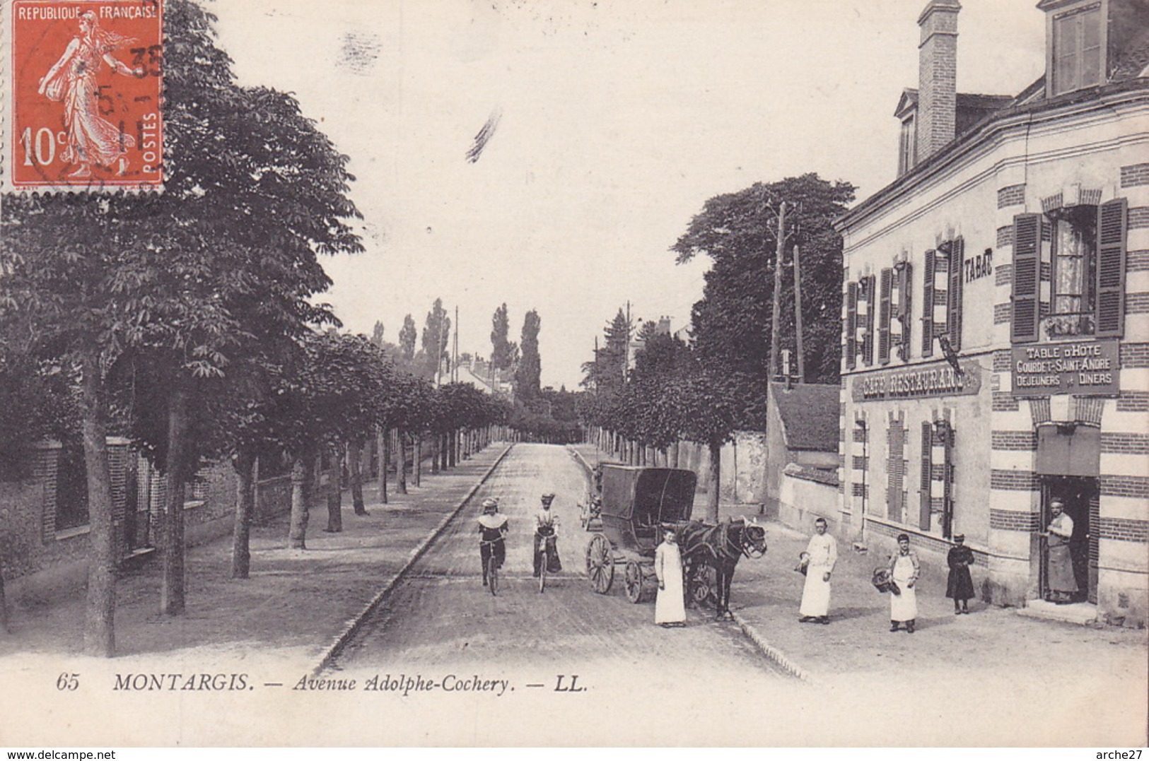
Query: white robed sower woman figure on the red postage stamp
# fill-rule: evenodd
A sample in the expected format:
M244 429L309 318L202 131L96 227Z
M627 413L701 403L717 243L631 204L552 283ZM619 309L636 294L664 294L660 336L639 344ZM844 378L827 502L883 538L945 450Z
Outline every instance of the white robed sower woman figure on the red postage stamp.
M91 177L92 164L113 168L124 149L136 145L134 138L121 134L116 125L100 116L100 87L95 81L101 61L125 77L144 76L144 69L132 69L111 55L132 41L100 29L97 15L85 10L79 15L79 34L40 79L39 93L64 104L67 146L61 157L79 164L69 177Z

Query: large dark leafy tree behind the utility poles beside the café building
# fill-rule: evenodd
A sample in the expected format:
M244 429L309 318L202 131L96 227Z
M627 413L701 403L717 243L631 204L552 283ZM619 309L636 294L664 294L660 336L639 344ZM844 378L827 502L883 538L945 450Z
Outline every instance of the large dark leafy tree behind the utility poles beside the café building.
M801 247L802 321L808 380L835 382L840 357L842 241L832 227L854 200L849 183L802 174L757 183L705 202L672 250L678 262L705 254L712 266L703 297L694 305L694 348L710 370L745 376L742 393L757 404L745 411L740 425L759 427L764 414L770 347L770 305L777 250L772 209L787 203L787 254ZM784 277L782 345L793 344L793 274ZM789 304L787 308L786 304Z

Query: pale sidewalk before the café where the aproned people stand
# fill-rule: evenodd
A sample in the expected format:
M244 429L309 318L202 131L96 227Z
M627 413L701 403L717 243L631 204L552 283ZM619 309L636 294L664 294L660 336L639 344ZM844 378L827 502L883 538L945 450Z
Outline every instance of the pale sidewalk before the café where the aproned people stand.
M599 459L593 444L574 449L592 465ZM695 499L696 512L700 499ZM739 518L745 511L723 505L720 515ZM971 670L995 678L1018 671L1041 674L1050 688L1055 681L1096 683L1101 675L1146 681L1144 630L1039 621L980 600L971 601L969 615L955 616L953 601L946 598L947 569L928 557L923 557L917 584L918 630L893 634L888 596L870 584L873 569L885 565L887 556L854 552L849 537L835 537L839 561L833 575L831 624L799 623L804 577L794 566L809 537L809 533L766 521L768 552L758 560L739 561L731 609L747 634L761 640L759 646L774 651L774 660L811 682L915 673L923 678L951 678L955 674L969 676ZM977 573L976 585L980 581ZM1143 693L1142 686L1139 694Z

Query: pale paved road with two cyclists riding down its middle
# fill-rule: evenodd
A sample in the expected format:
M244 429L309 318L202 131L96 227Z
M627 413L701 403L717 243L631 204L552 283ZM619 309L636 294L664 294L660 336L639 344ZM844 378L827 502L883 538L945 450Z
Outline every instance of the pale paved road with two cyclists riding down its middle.
M332 674L422 675L431 681L479 675L508 678L508 696L514 688L516 696L531 697L554 696L558 675L565 675L566 686L570 675L578 674L576 686L587 691L570 696L574 702L568 705L580 709L592 707L591 696L608 704L651 694L665 701L666 694L693 692L684 692L692 683L735 696L749 683L789 680L733 624L691 611L683 629L655 626L653 603L627 601L620 574L609 595L595 595L583 572L589 534L579 526L576 504L585 489L583 471L562 446L516 445L475 503L498 497L510 521L499 596L481 585L477 508L469 507L364 626ZM531 576L531 536L543 491L556 494L563 573L540 595Z

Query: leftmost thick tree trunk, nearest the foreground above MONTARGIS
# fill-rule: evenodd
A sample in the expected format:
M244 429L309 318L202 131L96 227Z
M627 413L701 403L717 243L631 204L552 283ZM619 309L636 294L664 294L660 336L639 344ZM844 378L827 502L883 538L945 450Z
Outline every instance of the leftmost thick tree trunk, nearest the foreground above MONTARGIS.
M83 372L84 465L91 526L84 652L111 658L116 654L116 542L111 523L108 441L103 430L103 381L100 356L94 349L84 352Z

